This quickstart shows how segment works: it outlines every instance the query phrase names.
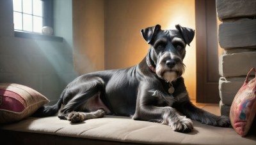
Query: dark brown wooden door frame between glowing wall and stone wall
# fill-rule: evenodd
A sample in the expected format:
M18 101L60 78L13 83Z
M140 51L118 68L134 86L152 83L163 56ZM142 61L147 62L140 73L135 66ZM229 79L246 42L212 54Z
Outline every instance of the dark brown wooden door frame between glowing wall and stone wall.
M218 64L216 64L216 61L218 61L218 29L215 1L195 0L195 16L196 102L218 103L220 101L220 93L218 80L216 80L217 77L219 78L219 74L216 74L218 73ZM210 55L211 51L214 51L214 54ZM212 59L211 57L217 60L209 60ZM214 71L214 80L211 79L212 71Z

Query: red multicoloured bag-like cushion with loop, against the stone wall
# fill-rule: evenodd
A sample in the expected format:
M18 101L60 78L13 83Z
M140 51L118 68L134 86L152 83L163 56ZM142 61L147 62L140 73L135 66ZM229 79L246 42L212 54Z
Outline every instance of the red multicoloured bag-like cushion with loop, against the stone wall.
M250 70L250 72L252 71L256 73L255 68ZM231 125L242 137L250 130L256 113L256 77L249 81L250 72L230 108Z

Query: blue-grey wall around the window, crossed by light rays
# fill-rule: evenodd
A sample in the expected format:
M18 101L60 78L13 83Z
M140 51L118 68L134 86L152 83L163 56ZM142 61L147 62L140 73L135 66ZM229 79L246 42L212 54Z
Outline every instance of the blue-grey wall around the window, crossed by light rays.
M64 39L59 42L15 37L12 1L0 1L0 83L29 86L45 95L51 104L56 102L63 88L76 77L72 64L72 27L67 27L72 20L72 8L68 0L65 2L70 8L59 9L58 13L69 15L54 11L55 17L62 21L61 25L54 25L56 35ZM55 2L57 6L61 3L64 1Z

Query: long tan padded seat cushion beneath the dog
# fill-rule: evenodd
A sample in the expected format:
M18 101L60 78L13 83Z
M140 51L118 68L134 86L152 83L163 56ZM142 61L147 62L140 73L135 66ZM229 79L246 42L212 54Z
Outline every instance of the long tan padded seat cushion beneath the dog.
M72 125L56 116L26 118L19 123L4 125L0 129L36 132L105 141L135 142L147 144L255 144L256 135L240 137L233 128L212 127L193 121L190 133L174 132L171 127L148 121L135 121L122 116L86 120Z

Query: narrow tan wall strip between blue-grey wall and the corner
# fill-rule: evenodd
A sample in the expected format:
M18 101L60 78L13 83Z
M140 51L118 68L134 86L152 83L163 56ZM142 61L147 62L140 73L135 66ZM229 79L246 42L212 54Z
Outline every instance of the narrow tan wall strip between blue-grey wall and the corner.
M73 1L74 67L79 74L103 70L104 0Z

